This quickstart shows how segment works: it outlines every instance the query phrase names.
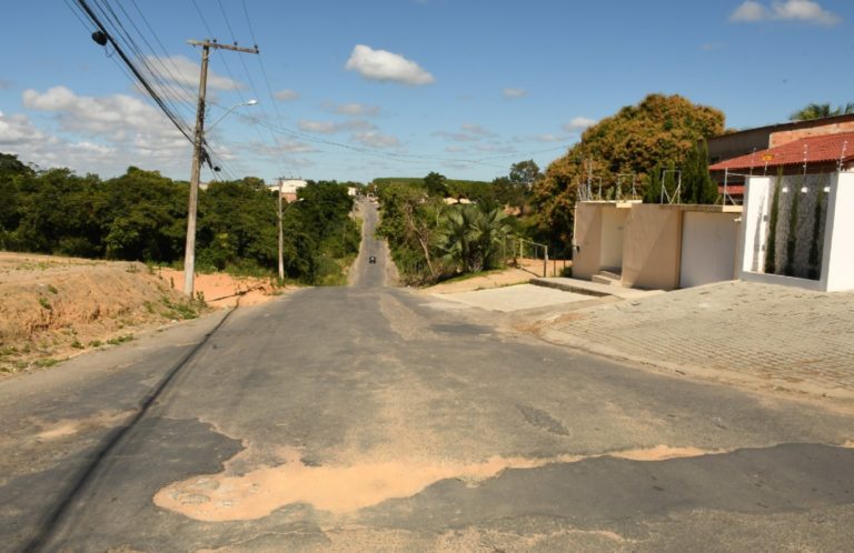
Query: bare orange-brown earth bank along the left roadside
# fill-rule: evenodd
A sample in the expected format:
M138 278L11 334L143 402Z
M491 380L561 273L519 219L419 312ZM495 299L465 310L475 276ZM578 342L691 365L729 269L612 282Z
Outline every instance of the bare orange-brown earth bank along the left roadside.
M138 262L0 252L0 378L281 292L260 279L201 274L202 304L176 290L182 283L180 271Z

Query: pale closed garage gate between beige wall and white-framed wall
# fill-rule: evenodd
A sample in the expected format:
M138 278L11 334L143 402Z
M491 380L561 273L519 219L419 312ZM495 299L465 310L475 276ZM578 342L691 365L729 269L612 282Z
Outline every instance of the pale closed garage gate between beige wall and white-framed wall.
M739 213L685 211L679 288L735 279Z

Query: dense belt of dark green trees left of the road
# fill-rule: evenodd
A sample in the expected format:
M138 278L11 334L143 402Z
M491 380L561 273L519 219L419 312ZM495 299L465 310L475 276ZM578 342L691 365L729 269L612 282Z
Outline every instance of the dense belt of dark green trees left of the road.
M115 179L39 171L0 153L0 249L180 264L188 184L135 167ZM285 269L305 283L341 281L358 252L352 198L334 181L309 182L284 221ZM276 191L257 178L212 182L199 193L197 268L272 274Z

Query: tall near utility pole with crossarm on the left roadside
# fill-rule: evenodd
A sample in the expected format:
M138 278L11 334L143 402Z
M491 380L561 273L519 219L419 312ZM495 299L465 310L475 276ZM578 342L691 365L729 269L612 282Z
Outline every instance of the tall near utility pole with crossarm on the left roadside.
M201 73L199 74L199 104L196 108L196 132L192 140L192 169L190 170L190 200L187 209L187 247L183 255L183 293L192 299L196 273L196 207L199 201L199 174L205 152L205 94L208 87L208 58L210 49L258 53L258 47L239 48L237 44L220 44L216 40L188 40L190 46L201 47Z

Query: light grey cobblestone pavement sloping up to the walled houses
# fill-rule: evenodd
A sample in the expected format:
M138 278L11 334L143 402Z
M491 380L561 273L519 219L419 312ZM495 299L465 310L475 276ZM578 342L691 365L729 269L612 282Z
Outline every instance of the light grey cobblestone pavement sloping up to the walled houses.
M594 353L854 399L854 292L722 282L565 313L540 329Z

